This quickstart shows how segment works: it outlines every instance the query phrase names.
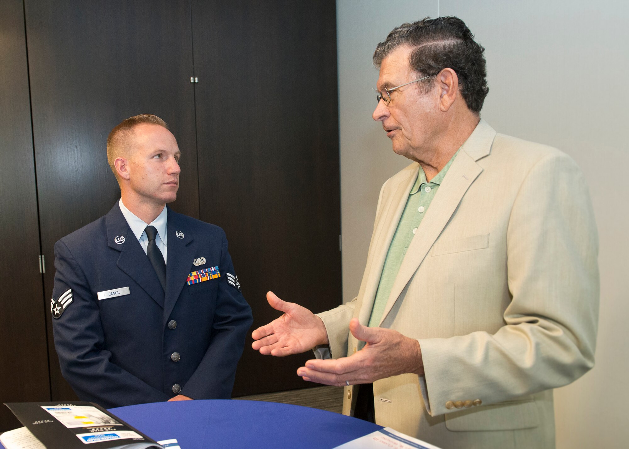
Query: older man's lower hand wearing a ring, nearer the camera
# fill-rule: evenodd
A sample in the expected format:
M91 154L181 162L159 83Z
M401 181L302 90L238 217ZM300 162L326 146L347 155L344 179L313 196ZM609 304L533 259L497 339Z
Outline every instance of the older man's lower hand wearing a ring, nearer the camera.
M350 321L350 331L359 340L367 342L362 350L349 357L308 360L297 374L304 380L339 387L368 384L392 375L423 374L417 340L391 329L362 326L356 318Z

